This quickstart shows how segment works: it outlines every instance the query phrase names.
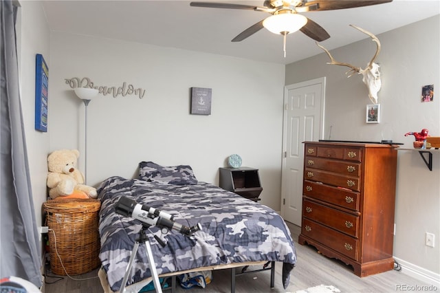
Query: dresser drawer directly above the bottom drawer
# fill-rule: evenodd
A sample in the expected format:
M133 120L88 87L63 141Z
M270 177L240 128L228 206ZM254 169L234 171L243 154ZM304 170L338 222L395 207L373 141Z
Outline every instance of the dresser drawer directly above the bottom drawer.
M350 236L358 237L359 217L303 199L303 216Z

